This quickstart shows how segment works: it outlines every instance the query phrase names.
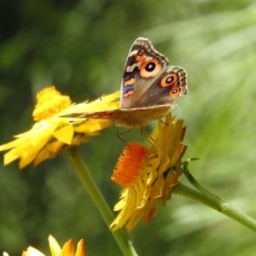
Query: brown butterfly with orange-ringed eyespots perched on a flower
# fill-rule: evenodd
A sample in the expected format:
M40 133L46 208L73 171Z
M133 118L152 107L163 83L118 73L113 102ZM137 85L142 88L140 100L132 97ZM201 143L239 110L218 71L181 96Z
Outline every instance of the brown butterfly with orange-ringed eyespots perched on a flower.
M68 118L110 119L114 125L143 127L160 119L175 107L173 100L187 94L187 73L169 66L165 55L156 51L147 38L137 38L125 62L121 108L94 113L71 113Z

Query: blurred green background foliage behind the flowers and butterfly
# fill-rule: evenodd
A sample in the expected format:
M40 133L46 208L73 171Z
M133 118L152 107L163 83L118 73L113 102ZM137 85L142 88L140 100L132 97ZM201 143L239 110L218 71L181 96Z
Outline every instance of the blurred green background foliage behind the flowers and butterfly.
M119 90L131 44L150 38L189 74L189 95L173 113L188 127L185 158L201 158L190 172L256 218L255 1L3 0L0 19L1 144L32 127L36 93L46 86L73 102ZM143 140L140 131L125 138ZM111 208L120 188L110 176L124 146L110 127L79 148ZM31 245L49 255L52 234L61 245L84 238L87 255L121 255L63 155L22 172L18 161L0 168L0 253L21 255ZM251 230L177 195L131 240L147 256L256 251Z

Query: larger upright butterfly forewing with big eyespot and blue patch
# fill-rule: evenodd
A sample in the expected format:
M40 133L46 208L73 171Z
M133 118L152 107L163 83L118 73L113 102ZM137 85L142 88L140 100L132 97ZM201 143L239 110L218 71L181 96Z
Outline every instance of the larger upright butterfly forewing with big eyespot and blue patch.
M137 38L128 54L123 75L121 108L143 108L140 103L148 88L160 78L169 61L156 51L147 38Z

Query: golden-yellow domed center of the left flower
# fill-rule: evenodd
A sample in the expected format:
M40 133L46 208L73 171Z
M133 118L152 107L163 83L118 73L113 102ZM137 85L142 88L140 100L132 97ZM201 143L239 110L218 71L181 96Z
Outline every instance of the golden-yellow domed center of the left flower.
M32 113L34 120L49 119L55 113L60 113L62 109L71 104L69 96L62 96L55 90L54 86L44 88L38 92L38 103Z

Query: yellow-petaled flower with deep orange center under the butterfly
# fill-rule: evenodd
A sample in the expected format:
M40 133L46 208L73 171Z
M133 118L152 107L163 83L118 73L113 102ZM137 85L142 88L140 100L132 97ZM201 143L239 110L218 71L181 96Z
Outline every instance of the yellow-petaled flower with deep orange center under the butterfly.
M149 224L159 203L165 205L171 199L172 187L183 173L180 165L187 148L182 143L185 130L183 120L175 121L169 113L148 137L150 147L139 143L125 147L112 177L124 188L114 207L120 212L110 225L113 231L124 225L131 231L141 218Z

